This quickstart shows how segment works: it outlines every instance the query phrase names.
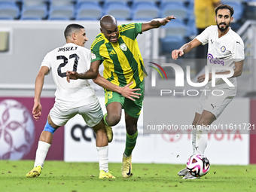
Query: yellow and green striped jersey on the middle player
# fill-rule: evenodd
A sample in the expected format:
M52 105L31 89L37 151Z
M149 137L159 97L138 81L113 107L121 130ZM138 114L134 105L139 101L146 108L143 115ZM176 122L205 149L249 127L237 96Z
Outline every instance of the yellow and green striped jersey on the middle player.
M143 81L145 70L142 55L136 37L142 33L142 23L130 23L118 26L117 43L111 43L103 33L96 36L90 49L92 62L103 61L103 77L120 87L130 84L136 87Z

